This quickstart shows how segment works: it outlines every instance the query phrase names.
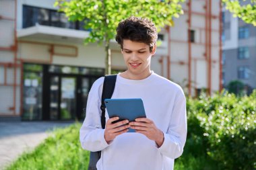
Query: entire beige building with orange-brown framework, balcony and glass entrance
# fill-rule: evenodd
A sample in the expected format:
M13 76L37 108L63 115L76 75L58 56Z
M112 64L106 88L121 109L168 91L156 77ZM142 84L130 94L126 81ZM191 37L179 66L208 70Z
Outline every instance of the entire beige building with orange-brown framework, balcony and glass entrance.
M68 22L53 0L0 0L0 119L83 119L92 83L104 75L104 48L84 46L88 30ZM162 44L152 69L196 95L221 89L220 1L187 1ZM110 44L115 71L125 63Z

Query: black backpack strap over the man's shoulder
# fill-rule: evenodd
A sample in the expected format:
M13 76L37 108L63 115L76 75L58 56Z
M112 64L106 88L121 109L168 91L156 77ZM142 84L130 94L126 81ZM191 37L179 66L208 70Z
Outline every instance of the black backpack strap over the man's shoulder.
M102 96L101 96L101 126L104 129L106 125L106 118L105 118L105 108L106 105L104 103L104 99L110 99L113 95L115 85L117 81L117 75L106 75L104 78L103 89L102 89Z

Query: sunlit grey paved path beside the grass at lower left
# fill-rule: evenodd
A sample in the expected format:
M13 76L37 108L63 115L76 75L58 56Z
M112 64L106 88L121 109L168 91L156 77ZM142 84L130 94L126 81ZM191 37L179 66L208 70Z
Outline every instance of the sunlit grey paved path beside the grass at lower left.
M73 122L0 122L0 169L42 142L54 128Z

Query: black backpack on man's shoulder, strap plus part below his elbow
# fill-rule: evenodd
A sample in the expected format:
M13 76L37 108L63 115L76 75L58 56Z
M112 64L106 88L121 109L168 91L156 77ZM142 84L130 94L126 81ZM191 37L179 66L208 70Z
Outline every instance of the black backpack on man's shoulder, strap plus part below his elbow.
M106 118L105 118L105 108L106 105L104 103L104 99L110 99L113 95L115 89L115 83L117 80L117 75L107 75L104 78L102 96L101 96L101 126L102 129L105 128ZM100 159L101 151L90 152L90 162L88 166L88 170L97 170L96 163Z

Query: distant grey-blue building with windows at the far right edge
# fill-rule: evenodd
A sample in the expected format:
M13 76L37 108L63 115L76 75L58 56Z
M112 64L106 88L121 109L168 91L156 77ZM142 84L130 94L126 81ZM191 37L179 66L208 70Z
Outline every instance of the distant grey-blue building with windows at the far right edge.
M248 90L256 88L256 27L232 17L223 9L222 75L224 86L242 81Z

